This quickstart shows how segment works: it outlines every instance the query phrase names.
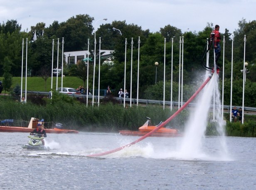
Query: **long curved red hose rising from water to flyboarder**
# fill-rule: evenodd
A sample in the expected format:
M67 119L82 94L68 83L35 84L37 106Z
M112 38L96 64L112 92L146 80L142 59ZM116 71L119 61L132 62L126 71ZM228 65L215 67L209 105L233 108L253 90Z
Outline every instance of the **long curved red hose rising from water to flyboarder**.
M145 139L146 137L150 136L153 132L159 130L161 127L165 126L167 123L169 123L173 118L176 117L176 115L178 115L185 107L187 107L187 105L197 96L197 94L204 88L204 86L209 82L209 80L212 78L212 75L209 76L205 82L201 85L201 87L199 87L199 89L190 97L190 99L179 109L177 110L172 116L170 116L170 118L168 118L167 120L165 120L163 123L161 123L158 127L156 127L154 130L148 132L146 135L140 137L139 139L129 143L129 144L126 144L122 147L119 147L117 149L113 149L113 150L110 150L110 151L107 151L107 152L102 152L102 153L98 153L98 154L91 154L91 155L87 155L88 157L98 157L98 156L104 156L104 155L107 155L107 154L111 154L111 153L114 153L114 152L118 152L122 149L124 149L125 147L130 147L131 145L133 144L136 144L137 142L140 142L142 141L143 139Z

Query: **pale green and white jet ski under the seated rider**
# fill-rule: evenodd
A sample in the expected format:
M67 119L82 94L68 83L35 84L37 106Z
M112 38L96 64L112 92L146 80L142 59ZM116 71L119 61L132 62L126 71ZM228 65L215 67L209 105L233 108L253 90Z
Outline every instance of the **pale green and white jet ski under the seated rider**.
M49 147L45 147L42 143L42 135L40 134L32 134L28 136L30 140L28 141L27 144L24 144L22 148L24 149L34 149L34 150L50 150Z

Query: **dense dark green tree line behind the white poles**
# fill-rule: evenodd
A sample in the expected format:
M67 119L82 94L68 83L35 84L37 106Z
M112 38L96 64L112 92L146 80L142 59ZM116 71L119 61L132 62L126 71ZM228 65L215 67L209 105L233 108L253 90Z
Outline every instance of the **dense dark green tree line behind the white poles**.
M21 24L17 20L7 20L0 24L0 76L4 77L6 73L12 76L21 76L22 63L22 39L28 38L28 59L27 66L31 77L41 76L42 71L52 68L52 39L55 40L54 45L54 67L57 66L57 38L60 38L60 44L64 37L65 51L81 51L87 50L88 39L90 56L94 58L94 18L88 14L79 14L71 17L65 22L54 21L49 27L45 27L45 23L39 22L36 26L31 26L30 31L21 31ZM113 27L119 29L114 31ZM202 75L203 67L201 63L202 53L206 46L206 39L212 32L213 24L207 23L202 31L187 31L182 33L180 29L168 24L160 28L158 32L152 33L149 29L143 30L141 26L136 24L127 24L126 21L113 21L112 23L101 24L96 30L96 39L101 37L101 49L113 50L114 65L101 65L100 85L104 89L108 85L112 89L123 88L124 84L124 67L125 67L125 47L126 53L126 87L129 91L130 87L130 68L131 60L133 60L132 70L132 96L137 94L137 71L138 71L138 36L140 36L140 80L139 80L139 97L145 99L162 99L162 81L164 75L164 61L166 63L165 79L167 81L167 94L170 94L170 79L174 82L174 91L177 91L177 82L179 81L179 63L180 63L180 36L184 36L184 53L183 53L183 84L185 86L184 94L190 94L199 75ZM221 26L221 29L224 26ZM34 32L36 31L37 40L33 41ZM225 29L222 34L221 47L223 48L223 36L225 36L225 55L224 55L224 104L230 103L230 78L231 78L231 47L233 42L233 104L242 104L242 87L243 75L240 70L243 69L244 63L244 35L246 35L246 62L249 63L246 75L245 88L245 106L256 106L256 75L254 71L256 66L256 21L246 22L242 19L238 22L238 29L234 34L229 33ZM133 38L133 52L131 51L131 38ZM166 56L164 55L164 38L166 38ZM173 43L172 43L173 38ZM125 43L127 39L127 44ZM59 48L59 58L62 56L61 45ZM26 43L25 45L26 46ZM173 57L171 55L173 49ZM213 51L212 51L213 52ZM133 53L133 57L131 55ZM223 53L223 50L222 50ZM98 73L98 54L99 43L96 44L96 74ZM213 54L213 53L212 53ZM25 54L24 54L25 55ZM222 54L223 55L223 54ZM223 56L219 59L221 72L219 73L220 82L222 82ZM24 56L25 63L25 56ZM59 65L61 65L59 59ZM101 60L103 63L104 60ZM173 72L171 73L171 63L173 61ZM157 84L155 84L155 65L157 68ZM210 54L210 63L213 63L213 56ZM7 67L6 65L9 65ZM89 63L93 65L93 61ZM79 74L81 70L85 70L86 63L83 61L77 65L64 66L64 75L74 75L84 77ZM92 89L93 67L89 67L89 85ZM10 71L9 71L10 70ZM45 73L45 72L44 72ZM85 73L87 75L87 73ZM24 75L23 75L24 76ZM97 85L98 77L95 84ZM195 83L195 84L194 84ZM96 87L97 89L97 87ZM176 93L177 94L177 93ZM174 101L177 95L174 94ZM185 97L189 97L185 95ZM169 98L169 97L168 97ZM167 97L166 97L167 99Z

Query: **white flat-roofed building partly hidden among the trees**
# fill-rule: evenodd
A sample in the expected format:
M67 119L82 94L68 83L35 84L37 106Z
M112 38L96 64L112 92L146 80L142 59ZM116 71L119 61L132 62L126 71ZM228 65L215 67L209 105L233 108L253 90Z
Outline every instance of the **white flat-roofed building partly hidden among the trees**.
M101 50L101 58L108 59L111 58L113 50ZM83 60L84 58L88 57L88 51L69 51L64 52L65 61L69 64L76 64L79 60ZM94 59L94 56L91 57L92 60Z

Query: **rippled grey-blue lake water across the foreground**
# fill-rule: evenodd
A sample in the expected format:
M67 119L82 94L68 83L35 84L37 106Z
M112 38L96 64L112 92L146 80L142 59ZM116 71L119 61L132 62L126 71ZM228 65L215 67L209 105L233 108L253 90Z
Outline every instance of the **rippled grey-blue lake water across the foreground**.
M0 189L10 190L255 190L256 138L205 137L202 150L179 155L182 137L148 137L98 158L138 137L114 133L47 134L50 151L22 149L26 133L0 132Z

